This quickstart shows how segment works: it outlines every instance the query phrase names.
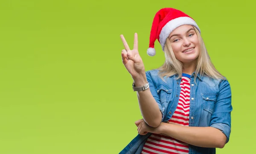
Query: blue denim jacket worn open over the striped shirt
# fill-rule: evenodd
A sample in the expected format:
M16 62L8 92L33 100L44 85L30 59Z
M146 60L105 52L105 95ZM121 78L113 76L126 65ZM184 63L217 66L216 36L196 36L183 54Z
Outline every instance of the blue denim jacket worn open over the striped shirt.
M180 96L180 81L177 75L164 78L158 76L159 70L149 70L146 77L150 91L162 113L162 122L167 122L175 112ZM231 89L227 80L216 80L207 76L190 80L189 126L211 126L223 132L229 141L231 131ZM140 154L151 135L138 134L119 154ZM189 154L215 154L215 148L203 148L189 145Z

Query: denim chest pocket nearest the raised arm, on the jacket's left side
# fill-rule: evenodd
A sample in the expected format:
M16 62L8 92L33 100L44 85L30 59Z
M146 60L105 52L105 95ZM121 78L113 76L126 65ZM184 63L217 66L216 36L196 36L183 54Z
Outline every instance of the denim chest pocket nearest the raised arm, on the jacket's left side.
M172 90L164 84L159 84L156 87L156 89L157 89L157 94L160 98L161 103L163 104L164 102L168 102L170 95L172 93Z

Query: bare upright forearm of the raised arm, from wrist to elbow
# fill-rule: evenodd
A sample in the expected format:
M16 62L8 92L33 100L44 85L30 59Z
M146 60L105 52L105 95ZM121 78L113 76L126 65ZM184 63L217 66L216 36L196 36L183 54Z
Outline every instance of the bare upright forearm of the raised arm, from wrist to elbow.
M134 84L136 87L145 85L147 80L135 80ZM153 95L150 92L150 88L145 91L137 92L137 97L140 106L140 112L145 122L151 127L157 127L160 125L162 120L162 113L155 101Z

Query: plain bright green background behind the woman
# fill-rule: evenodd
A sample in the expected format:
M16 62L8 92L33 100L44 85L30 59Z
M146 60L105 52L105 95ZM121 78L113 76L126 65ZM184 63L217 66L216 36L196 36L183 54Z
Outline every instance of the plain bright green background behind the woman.
M154 14L189 14L232 88L230 142L218 154L254 153L255 3L252 0L1 0L0 154L117 154L141 118L119 37L138 33L145 69Z

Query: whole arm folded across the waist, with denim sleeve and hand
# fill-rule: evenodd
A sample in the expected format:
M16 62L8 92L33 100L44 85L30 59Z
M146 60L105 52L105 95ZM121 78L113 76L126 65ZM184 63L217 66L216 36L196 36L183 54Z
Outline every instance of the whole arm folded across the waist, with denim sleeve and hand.
M185 143L208 148L223 148L229 141L231 130L231 90L227 80L219 85L220 91L208 127L188 127L172 123L161 123L159 127L146 126L143 121L138 132L166 134Z

